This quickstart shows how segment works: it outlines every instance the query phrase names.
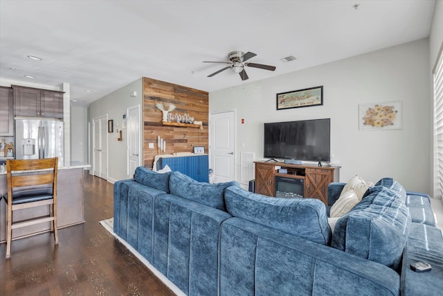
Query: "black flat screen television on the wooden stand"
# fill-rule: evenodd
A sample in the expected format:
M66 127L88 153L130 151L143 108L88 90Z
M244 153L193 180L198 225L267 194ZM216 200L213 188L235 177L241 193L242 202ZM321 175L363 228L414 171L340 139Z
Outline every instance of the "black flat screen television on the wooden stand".
M264 123L264 157L329 162L331 119Z

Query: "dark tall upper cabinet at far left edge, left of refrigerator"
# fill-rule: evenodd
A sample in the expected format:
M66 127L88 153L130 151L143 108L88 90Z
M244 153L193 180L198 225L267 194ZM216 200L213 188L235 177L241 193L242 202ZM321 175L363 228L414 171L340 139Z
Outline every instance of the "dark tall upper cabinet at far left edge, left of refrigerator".
M12 88L0 87L0 136L14 135L14 96Z

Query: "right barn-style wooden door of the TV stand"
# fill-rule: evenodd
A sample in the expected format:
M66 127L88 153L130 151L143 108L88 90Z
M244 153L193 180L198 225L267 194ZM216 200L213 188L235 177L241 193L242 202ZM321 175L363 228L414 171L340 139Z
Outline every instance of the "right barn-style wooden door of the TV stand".
M334 180L334 171L306 168L305 198L317 198L327 205L327 186Z

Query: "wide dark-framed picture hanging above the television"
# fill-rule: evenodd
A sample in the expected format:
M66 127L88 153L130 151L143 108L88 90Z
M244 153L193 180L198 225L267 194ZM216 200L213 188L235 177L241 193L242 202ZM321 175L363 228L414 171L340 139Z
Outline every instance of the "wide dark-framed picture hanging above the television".
M277 110L323 105L323 85L277 94Z

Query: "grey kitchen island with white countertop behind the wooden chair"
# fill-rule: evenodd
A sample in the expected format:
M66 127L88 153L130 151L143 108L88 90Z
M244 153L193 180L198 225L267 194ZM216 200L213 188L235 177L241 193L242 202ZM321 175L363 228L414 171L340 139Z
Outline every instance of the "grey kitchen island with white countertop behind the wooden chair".
M57 220L58 229L84 223L84 168L89 164L70 162L60 167L57 173ZM0 173L0 198L8 192L6 172ZM49 207L22 209L14 212L15 220L49 214ZM6 239L6 201L0 200L0 243ZM30 236L49 231L49 223L31 225L12 230L12 238Z

